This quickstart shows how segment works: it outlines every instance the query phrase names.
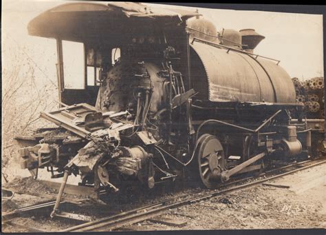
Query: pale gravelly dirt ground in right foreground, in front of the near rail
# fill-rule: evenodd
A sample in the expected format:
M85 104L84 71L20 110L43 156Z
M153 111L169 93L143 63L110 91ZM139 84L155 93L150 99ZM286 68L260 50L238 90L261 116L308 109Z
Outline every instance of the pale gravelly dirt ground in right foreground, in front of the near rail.
M326 228L326 164L277 178L279 188L259 185L172 210L162 217L183 227L144 221L126 229L290 229Z

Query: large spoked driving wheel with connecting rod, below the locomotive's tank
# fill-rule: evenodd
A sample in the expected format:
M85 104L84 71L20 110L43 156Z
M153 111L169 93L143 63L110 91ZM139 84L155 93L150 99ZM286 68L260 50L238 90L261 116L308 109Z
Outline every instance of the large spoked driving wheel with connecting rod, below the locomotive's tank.
M217 187L224 169L224 150L215 136L204 134L200 137L197 160L199 176L204 186Z

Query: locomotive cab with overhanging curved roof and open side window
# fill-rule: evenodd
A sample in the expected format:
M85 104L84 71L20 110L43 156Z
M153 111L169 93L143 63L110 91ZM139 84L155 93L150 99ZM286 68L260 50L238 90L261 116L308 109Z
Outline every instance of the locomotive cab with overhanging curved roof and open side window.
M137 3L67 3L33 19L28 31L57 41L59 100L95 105L100 74L105 76L119 55L160 65L168 44L179 52L186 48L181 24L196 15Z

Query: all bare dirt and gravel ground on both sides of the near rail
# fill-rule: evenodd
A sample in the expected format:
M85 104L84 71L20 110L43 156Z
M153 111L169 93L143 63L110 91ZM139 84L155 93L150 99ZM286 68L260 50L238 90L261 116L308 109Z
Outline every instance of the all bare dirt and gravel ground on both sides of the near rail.
M326 164L319 165L268 182L290 186L290 188L254 186L246 190L216 196L208 201L179 207L163 216L186 222L186 225L182 227L144 221L127 226L124 230L326 228L325 176ZM41 187L38 186L38 188ZM157 189L155 194L129 194L126 198L117 196L117 198L111 198L111 203L107 205L83 207L86 211L83 214L96 214L96 217L100 218L108 216L111 210L130 210L132 207L147 205L155 201L169 200L169 198L175 198L176 195L198 192L198 189L186 188L161 193L158 191ZM130 203L131 196L134 198L134 203ZM37 200L39 200L37 197L25 198L16 194L11 202L3 201L2 205L5 208L3 212L33 204ZM61 218L49 221L48 215L37 219L33 216L17 218L15 222L32 225L48 232L72 226L71 223ZM11 227L7 227L3 232L14 231ZM24 230L16 229L15 232L24 232Z

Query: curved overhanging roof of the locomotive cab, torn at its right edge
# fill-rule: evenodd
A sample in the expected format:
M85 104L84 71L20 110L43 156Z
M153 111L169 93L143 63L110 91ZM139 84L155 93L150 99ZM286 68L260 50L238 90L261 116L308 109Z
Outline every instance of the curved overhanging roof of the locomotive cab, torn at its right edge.
M32 36L86 41L100 35L123 35L128 27L146 30L149 25L179 25L197 12L152 8L130 2L65 3L39 14L28 24ZM132 26L131 26L132 25ZM117 37L117 35L116 35Z

